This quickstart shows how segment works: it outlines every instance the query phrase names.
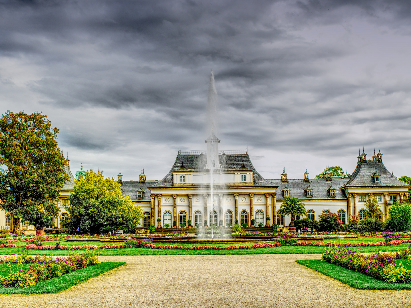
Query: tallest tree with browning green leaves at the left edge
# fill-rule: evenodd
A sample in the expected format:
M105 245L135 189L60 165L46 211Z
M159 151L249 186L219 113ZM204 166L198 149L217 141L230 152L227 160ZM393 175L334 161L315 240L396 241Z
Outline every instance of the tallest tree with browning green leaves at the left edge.
M49 199L58 198L69 177L57 133L39 112L7 111L0 118L1 207L13 218L13 233L21 233L21 219L42 229L59 211Z

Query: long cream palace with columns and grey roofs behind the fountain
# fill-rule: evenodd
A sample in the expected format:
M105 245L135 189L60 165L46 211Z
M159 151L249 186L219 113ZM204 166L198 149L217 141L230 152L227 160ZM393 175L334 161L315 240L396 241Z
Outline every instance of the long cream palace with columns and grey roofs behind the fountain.
M395 200L409 200L410 186L386 169L380 152L374 152L372 160L367 160L364 151L359 154L351 177L337 177L327 170L323 178L310 179L305 170L302 179L288 179L283 168L280 179L264 179L254 168L247 150L219 151L220 140L214 134L205 142L208 147L205 152L178 150L171 170L161 181L147 180L144 170L138 181L123 181L119 172L118 182L124 195L129 195L136 206L143 208L146 215L141 220L143 228L150 225L171 227L173 221L177 226L187 225L188 220L193 226L210 225L210 222L228 226L236 220L251 225L254 219L255 225L276 223L287 231L291 218L277 212L288 196L302 200L309 219L318 220L319 214L333 212L343 223L354 215L365 218L364 204L370 193L379 202L382 219L388 217L389 207ZM208 152L213 154L208 155ZM214 166L212 175L210 165ZM56 230L60 230L61 221L69 217L64 207L69 202L67 197L73 191L74 180L86 174L81 165L73 176L68 158L64 168L70 179L56 200L60 208L58 217L53 217ZM214 182L212 194L211 179ZM301 218L305 216L296 217ZM0 211L0 228L12 228L12 218L3 210ZM21 229L26 234L35 233L34 226L27 222L22 222ZM53 231L53 226L48 226L47 230Z

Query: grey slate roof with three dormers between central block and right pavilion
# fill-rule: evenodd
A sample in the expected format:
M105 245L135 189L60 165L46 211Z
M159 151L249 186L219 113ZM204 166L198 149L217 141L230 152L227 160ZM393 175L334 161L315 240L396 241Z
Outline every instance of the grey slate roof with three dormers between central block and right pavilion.
M322 199L347 199L345 193L342 191L341 187L344 186L349 178L333 178L332 182L326 181L326 179L310 179L309 182L304 182L304 179L289 179L287 183L282 183L281 179L269 179L278 188L275 190L277 193L277 200L285 200L282 190L287 185L290 190L289 195L292 197L297 197L300 200L322 200ZM309 185L312 189L312 197L306 197L305 188ZM335 189L335 197L330 197L328 195L327 189L332 185Z

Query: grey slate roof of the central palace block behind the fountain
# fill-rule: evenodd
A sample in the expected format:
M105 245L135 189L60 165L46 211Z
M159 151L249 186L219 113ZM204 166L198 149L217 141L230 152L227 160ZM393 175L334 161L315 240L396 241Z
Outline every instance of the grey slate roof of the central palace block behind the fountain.
M271 182L264 179L254 168L248 154L219 154L219 162L222 165L223 170L233 171L240 168L247 168L253 170L253 186L273 186ZM173 186L173 172L179 169L181 166L192 171L203 171L204 166L207 163L207 156L205 154L190 154L190 155L177 155L173 167L169 173L157 182L152 187L169 187ZM240 169L242 170L242 169ZM124 182L123 182L124 183Z

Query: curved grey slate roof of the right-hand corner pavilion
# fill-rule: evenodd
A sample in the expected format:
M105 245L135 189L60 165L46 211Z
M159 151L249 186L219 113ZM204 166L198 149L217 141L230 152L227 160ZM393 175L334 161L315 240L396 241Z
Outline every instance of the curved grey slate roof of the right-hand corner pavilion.
M377 172L380 182L374 183L372 175ZM410 186L391 174L383 163L368 160L367 163L358 163L349 181L342 187L351 186Z

